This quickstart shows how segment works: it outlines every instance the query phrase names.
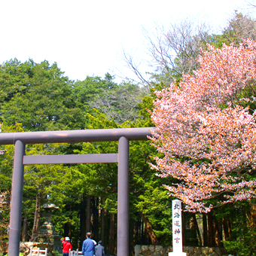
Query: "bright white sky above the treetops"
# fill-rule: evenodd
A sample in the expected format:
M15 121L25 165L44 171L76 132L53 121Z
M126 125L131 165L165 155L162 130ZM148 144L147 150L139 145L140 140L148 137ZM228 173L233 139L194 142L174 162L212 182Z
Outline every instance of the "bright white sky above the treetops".
M122 48L143 49L142 26L200 17L218 28L245 0L0 0L0 63L47 59L84 80L120 69ZM243 8L243 9L242 9ZM140 53L140 52L139 52ZM142 53L143 58L143 53Z

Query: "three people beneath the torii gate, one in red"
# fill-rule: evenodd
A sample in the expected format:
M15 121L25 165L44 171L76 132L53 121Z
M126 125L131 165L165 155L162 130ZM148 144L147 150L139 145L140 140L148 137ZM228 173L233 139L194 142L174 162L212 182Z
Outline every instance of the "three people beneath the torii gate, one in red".
M82 255L105 256L105 251L104 251L104 247L102 246L102 241L99 241L98 245L96 245L97 243L93 239L91 239L92 234L90 232L88 232L86 236L87 236L87 239L85 239L83 242ZM63 245L62 255L69 256L69 249L72 250L72 245L68 236L62 239L62 245Z

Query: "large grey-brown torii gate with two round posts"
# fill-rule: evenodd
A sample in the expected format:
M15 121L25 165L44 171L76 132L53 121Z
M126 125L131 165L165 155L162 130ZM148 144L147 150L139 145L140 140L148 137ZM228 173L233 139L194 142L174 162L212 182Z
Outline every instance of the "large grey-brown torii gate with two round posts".
M117 256L129 254L129 141L146 140L154 128L120 128L51 132L0 133L0 145L15 145L11 189L8 255L20 252L23 174L25 164L118 163L117 178ZM26 156L26 144L118 141L117 154L72 154Z

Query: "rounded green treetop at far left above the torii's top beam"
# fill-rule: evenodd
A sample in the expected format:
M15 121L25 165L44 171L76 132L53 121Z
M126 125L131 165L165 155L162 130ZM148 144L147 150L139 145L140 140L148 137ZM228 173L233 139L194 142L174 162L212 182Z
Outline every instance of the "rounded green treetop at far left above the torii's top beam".
M56 63L5 62L0 84L1 117L9 125L22 123L30 131L82 128L83 114L72 98L73 82Z

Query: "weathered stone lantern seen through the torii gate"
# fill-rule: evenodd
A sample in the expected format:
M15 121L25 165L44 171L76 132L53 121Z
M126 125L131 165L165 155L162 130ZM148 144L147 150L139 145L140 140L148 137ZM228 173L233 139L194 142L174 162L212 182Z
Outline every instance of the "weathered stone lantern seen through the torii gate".
M43 208L45 209L44 216L46 220L38 231L38 242L53 244L53 250L62 253L62 242L60 241L61 237L51 223L51 218L53 217L52 211L53 209L58 209L59 207L56 207L51 203L45 204Z

